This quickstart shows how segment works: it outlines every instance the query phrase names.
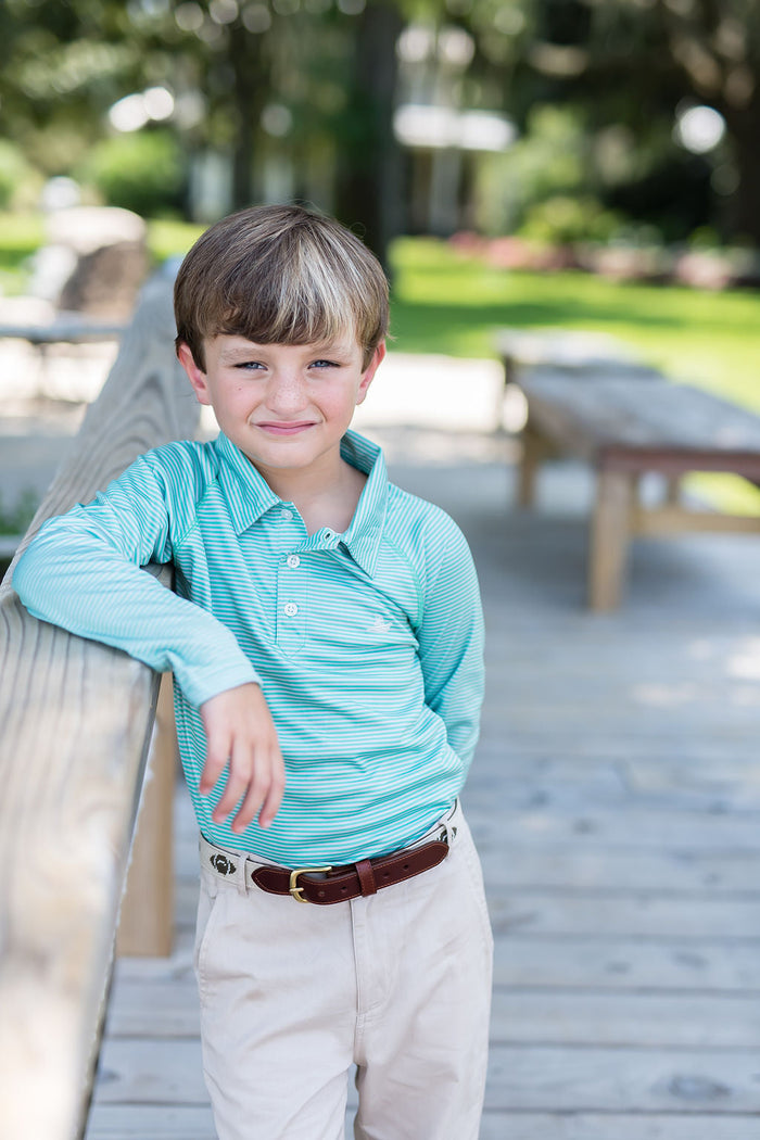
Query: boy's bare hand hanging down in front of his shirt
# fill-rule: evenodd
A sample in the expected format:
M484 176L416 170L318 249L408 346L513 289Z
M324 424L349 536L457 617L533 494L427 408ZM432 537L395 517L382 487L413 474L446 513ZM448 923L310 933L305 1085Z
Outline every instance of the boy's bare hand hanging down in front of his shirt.
M212 819L221 823L245 797L232 831L245 831L261 808L259 825L275 819L285 790L285 765L271 712L259 685L238 685L201 706L206 732L206 763L201 795L207 796L229 762L227 788Z

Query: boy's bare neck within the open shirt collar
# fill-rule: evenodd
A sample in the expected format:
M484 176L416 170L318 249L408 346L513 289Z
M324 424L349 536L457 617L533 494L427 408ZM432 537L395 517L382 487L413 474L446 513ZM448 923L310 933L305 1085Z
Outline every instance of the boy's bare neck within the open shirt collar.
M329 527L341 535L351 523L367 475L340 456L320 470L262 469L269 487L285 503L293 503L310 535Z

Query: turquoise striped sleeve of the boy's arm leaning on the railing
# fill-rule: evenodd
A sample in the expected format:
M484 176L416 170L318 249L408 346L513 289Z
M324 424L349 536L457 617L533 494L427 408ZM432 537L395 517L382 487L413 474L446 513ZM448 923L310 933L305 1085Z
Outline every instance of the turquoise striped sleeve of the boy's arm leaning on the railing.
M34 617L172 669L197 707L259 678L224 625L140 569L171 562L172 545L166 487L141 457L92 503L42 527L14 588Z

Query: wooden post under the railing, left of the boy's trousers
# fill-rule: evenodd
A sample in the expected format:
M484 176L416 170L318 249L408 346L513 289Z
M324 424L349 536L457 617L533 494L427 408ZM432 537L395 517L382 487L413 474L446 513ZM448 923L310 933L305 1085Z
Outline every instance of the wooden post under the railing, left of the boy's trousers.
M172 814L177 779L177 732L172 682L161 682L147 783L132 845L116 953L166 958L174 929Z

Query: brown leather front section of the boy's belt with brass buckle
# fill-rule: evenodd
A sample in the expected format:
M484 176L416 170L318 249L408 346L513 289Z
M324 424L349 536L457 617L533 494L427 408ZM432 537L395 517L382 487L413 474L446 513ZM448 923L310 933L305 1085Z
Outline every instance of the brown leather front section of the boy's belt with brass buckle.
M299 903L329 906L345 903L360 895L375 895L415 874L430 871L449 854L444 839L434 839L419 847L406 847L378 858L362 858L348 866L300 866L288 871L283 866L258 866L252 879L270 895L292 895Z

